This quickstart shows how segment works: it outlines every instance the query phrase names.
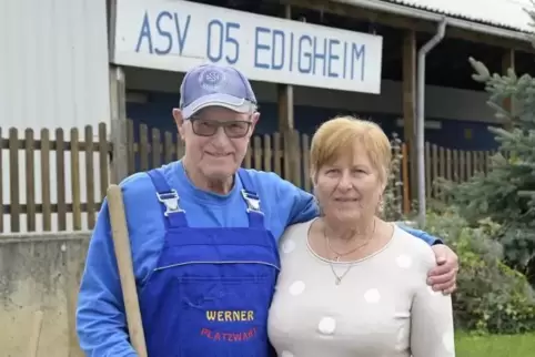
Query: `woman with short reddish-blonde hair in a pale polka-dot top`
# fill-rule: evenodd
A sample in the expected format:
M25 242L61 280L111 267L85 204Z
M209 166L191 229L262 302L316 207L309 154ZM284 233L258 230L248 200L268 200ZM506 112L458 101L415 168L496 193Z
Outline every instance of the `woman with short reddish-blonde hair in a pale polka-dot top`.
M372 122L337 118L315 133L311 176L323 215L281 241L269 318L277 356L455 356L451 297L426 284L433 251L376 215L391 155Z

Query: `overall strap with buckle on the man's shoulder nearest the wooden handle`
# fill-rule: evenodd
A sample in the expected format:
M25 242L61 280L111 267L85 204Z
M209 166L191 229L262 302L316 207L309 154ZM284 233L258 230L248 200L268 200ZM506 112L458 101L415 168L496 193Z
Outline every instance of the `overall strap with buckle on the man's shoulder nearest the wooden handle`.
M186 227L185 211L179 205L180 197L176 190L172 190L160 170L147 172L157 188L157 197L161 203L165 228Z

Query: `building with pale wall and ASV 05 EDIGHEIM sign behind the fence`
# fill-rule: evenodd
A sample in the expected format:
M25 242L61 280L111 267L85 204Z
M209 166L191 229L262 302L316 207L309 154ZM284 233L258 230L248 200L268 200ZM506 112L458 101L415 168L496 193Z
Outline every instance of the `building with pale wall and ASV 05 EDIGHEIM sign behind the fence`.
M486 105L484 88L472 81L467 59L475 57L494 72L513 67L524 73L533 71L533 51L527 34L531 19L524 11L531 2L487 1L493 4L8 1L0 12L1 136L7 139L10 129L18 129L23 139L31 129L39 140L40 130L49 129L53 140L61 128L69 140L72 128L82 131L90 125L97 135L99 123L105 123L111 137L114 121L124 119L174 132L171 110L179 104L183 73L213 62L235 65L252 80L262 113L258 133L284 128L313 133L324 120L349 113L376 121L388 134L396 132L410 142L417 116L417 51L445 19L445 37L426 58L425 141L448 149L493 150L496 143L487 126L503 123ZM282 102L289 105L282 108ZM55 159L50 157L51 173L58 172ZM60 188L65 204L73 204L69 153L64 159L67 180ZM13 185L14 176L4 170L10 160L2 150L0 198L8 208L13 187L21 205L28 193L24 184ZM100 175L98 166L85 172L83 160L82 187ZM23 150L18 162L24 162ZM40 164L36 157L36 173ZM23 164L17 170L19 177L27 176ZM51 181L60 183L58 177ZM58 185L51 185L52 203L60 197ZM39 180L33 194L42 195ZM98 203L103 192L95 188L93 195ZM87 202L87 193L82 190L77 200ZM9 232L6 212L0 231ZM87 213L82 215L85 222Z

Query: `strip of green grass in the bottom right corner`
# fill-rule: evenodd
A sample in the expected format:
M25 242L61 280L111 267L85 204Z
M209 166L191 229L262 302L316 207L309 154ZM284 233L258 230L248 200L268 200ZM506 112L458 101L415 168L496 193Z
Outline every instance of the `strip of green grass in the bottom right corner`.
M456 357L534 357L535 334L468 336L456 332Z

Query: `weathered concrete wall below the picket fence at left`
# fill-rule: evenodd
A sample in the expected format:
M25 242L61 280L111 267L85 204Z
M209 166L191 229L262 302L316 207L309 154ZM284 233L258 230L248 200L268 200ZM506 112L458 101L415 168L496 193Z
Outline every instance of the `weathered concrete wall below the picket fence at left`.
M0 356L28 356L43 313L40 357L82 357L74 328L89 233L0 235Z

